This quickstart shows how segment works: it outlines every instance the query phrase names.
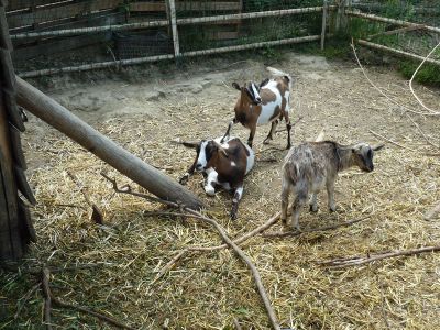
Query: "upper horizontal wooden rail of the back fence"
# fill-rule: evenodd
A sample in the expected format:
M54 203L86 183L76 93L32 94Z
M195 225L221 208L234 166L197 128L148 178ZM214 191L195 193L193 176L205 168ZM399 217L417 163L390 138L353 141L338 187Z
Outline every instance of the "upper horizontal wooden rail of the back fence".
M334 10L334 6L329 6L329 10ZM200 24L200 23L230 23L233 20L244 20L244 19L255 19L255 18L271 18L271 16L284 16L304 13L316 13L321 12L322 7L311 7L311 8L299 8L299 9L284 9L284 10L272 10L262 12L248 12L248 13L237 13L237 14L224 14L215 16L201 16L201 18L186 18L177 19L176 23L178 25L189 25L189 24ZM74 35L74 34L95 34L97 32L105 31L129 31L139 30L147 28L167 26L169 22L167 20L150 21L141 23L129 23L122 25L106 25L96 28L80 28L80 29L66 29L56 31L42 31L42 32L25 32L20 34L12 34L12 40L32 38L32 37L43 37L43 36L63 36L63 35Z

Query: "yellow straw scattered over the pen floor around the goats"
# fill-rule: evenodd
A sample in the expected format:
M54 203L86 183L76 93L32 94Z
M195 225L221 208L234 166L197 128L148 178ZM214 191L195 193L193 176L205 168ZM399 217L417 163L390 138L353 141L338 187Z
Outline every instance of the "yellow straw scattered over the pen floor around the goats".
M377 142L367 128L377 132L386 129L387 138L414 151L387 144L375 158L375 172L361 174L353 169L340 176L336 213L327 211L323 193L319 212L312 215L304 210L300 223L304 229L310 229L371 215L369 219L348 228L295 238L258 235L244 244L244 251L261 272L284 328L439 329L440 254L391 258L341 270L317 264L317 261L334 257L440 243L439 221L422 218L440 200L439 157L422 153L429 148L418 133L407 122L403 124L403 118L396 117L383 99L372 99L364 94L366 86L362 85L361 77L356 80L358 73L344 67L341 70L361 84L359 90L352 87L350 100L334 94L340 86L309 94L308 103L298 110L305 120L295 128L296 140L312 139L327 122L328 136L343 143L359 139ZM353 86L353 81L349 84ZM310 87L299 81L298 88L308 92ZM326 97L328 106L318 103L316 107L317 100ZM376 112L364 113L365 120L359 121L360 113L353 111L358 103L373 105ZM381 107L387 110L382 111ZM169 142L176 138L207 138L208 127L212 128L210 136L220 135L230 110L226 103L200 101L168 103L161 110L164 111L161 119L142 116L111 119L98 129L178 179L194 154ZM212 125L219 121L219 116L222 124ZM370 127L377 117L381 121ZM268 127L257 131L257 148L267 130ZM238 127L235 133L244 139L248 134ZM439 138L439 133L433 134ZM274 144L285 145L283 133ZM26 264L36 261L51 266L97 264L91 270L55 274L51 283L56 296L142 329L231 329L233 318L243 329L268 327L252 276L229 250L191 254L152 285L156 272L183 249L221 243L211 228L194 220L146 217L144 212L163 207L114 194L100 172L108 170L120 185L129 183L128 179L58 133L48 131L43 142L28 138L28 153L44 160L44 165L32 170L31 182L38 200L34 209L38 243L32 246ZM190 178L188 187L209 206L206 212L218 220L230 237L239 237L278 211L279 168L284 154L277 151L258 154L260 160L275 157L278 162L256 162L246 178L235 222L228 218L229 194L207 198L201 188L202 178L197 175ZM103 212L106 226L90 221L91 209L67 172L87 187L91 200ZM275 224L272 230L280 230L280 226ZM20 283L22 288L16 290L24 294L33 286L31 279L30 275L9 274L7 283L10 287ZM42 298L33 294L30 301L20 314L20 323L40 324ZM63 328L108 327L67 309L55 309L53 321Z

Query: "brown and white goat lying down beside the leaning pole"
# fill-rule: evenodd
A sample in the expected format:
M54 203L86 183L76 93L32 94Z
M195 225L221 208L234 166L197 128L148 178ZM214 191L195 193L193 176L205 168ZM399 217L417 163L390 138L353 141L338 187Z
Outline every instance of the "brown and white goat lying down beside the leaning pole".
M223 142L220 143L220 141ZM239 202L243 196L244 176L254 166L255 154L251 147L238 138L218 138L202 140L199 143L183 142L185 146L197 150L196 160L188 172L180 178L185 185L195 170L201 172L206 177L205 191L209 196L216 194L216 187L223 187L233 191L231 219L237 219Z

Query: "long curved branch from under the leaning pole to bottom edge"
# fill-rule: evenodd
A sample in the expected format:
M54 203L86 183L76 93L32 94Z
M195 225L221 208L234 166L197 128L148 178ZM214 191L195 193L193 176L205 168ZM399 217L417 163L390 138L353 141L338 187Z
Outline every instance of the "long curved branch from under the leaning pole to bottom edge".
M262 300L263 300L264 307L265 307L266 312L267 312L267 316L268 316L268 318L270 318L272 328L275 329L275 330L279 330L279 329L280 329L280 328L279 328L278 320L277 320L276 315L275 315L275 311L274 311L274 309L273 309L273 307L272 307L272 304L271 304L271 301L270 301L270 299L268 299L268 297L267 297L266 289L264 288L264 285L263 285L263 283L262 283L262 279L261 279L258 270L255 267L255 265L252 263L252 261L249 258L249 256L243 252L243 250L241 250L234 242L232 242L232 240L231 240L231 239L228 237L228 234L226 233L224 229L223 229L217 221L215 221L213 219L210 219L210 218L208 218L208 217L205 217L205 216L201 215L200 212L195 211L195 210L193 210L193 209L190 209L190 208L188 208L188 207L185 207L185 206L183 206L183 205L179 205L179 204L176 204L176 202L173 202L173 201L168 201L168 200L163 200L163 199L160 199L160 198L156 198L156 197L152 197L152 196L146 195L146 194L141 194L141 193L132 191L131 188L130 188L130 186L127 186L125 189L120 189L120 188L118 187L118 184L117 184L116 179L110 178L110 177L109 177L108 175L106 175L105 173L101 173L101 175L102 175L106 179L108 179L110 183L112 183L113 189L114 189L117 193L129 194L129 195L133 195L133 196L138 196L138 197L145 198L145 199L147 199L147 200L155 200L155 201L157 201L157 202L165 204L165 205L167 205L167 206L170 206L170 207L174 207L174 208L178 208L178 209L183 210L184 212L187 212L187 213L185 213L186 217L200 219L200 220L202 220L202 221L205 221L205 222L208 222L208 223L212 224L212 226L217 229L217 231L219 232L219 234L221 235L221 238L223 239L223 241L224 241L232 250L234 250L234 252L240 256L240 258L241 258L241 260L248 265L248 267L251 270L252 275L253 275L254 280L255 280L255 284L256 284L256 287L257 287L257 289L258 289L260 296L261 296L261 298L262 298ZM184 251L185 251L185 250L184 250ZM184 254L185 254L185 253L182 253L182 255L184 255Z

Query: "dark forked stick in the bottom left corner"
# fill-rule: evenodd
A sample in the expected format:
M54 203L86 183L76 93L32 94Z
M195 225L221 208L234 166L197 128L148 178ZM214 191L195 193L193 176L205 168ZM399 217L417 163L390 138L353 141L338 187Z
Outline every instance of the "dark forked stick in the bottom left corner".
M73 308L73 309L89 314L94 317L97 317L100 320L103 320L103 321L106 321L112 326L116 326L118 328L121 328L121 329L134 330L134 328L125 326L125 324L119 322L118 320L110 318L108 316L105 316L102 314L92 311L82 306L72 305L72 304L67 304L67 302L59 300L52 294L52 290L51 290L51 286L50 286L51 271L47 267L43 267L43 270L41 271L41 274L42 274L43 294L44 294L44 298L45 298L44 299L44 322L46 323L47 329L52 329L51 309L52 309L52 304L53 304L53 305L57 305L61 307Z

